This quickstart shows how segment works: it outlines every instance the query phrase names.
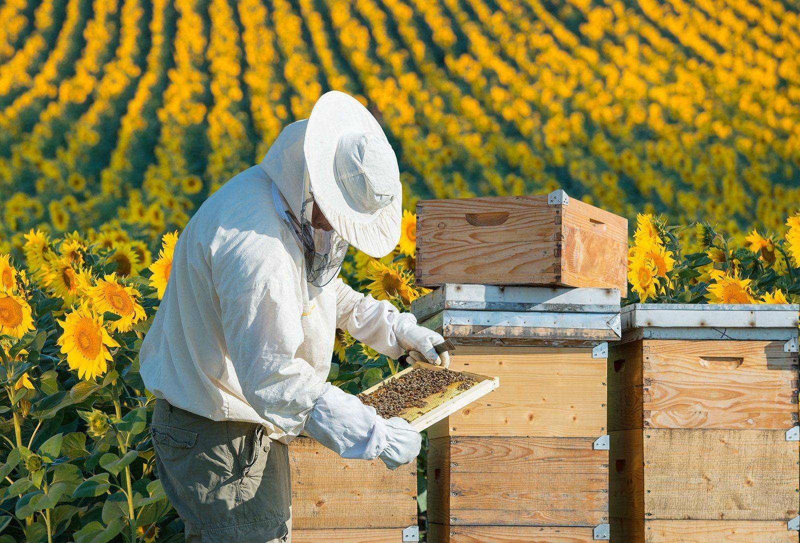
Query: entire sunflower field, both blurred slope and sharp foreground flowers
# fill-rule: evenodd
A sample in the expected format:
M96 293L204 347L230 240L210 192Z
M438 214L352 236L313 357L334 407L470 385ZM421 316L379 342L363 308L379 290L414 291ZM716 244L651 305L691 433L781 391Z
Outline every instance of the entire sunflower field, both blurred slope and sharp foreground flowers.
M406 209L562 188L635 222L629 302L800 301L798 12L6 0L0 543L182 541L154 474L138 348L194 209L326 90L381 122ZM386 258L351 251L346 280L407 309L426 292L414 225L406 211ZM338 333L336 385L358 392L396 370Z

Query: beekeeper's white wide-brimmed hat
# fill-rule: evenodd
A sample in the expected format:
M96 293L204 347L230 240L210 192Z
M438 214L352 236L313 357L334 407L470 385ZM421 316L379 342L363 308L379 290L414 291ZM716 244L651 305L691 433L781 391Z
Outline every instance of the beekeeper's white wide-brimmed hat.
M400 240L397 156L378 121L355 98L332 90L314 105L303 144L311 193L330 226L374 258Z

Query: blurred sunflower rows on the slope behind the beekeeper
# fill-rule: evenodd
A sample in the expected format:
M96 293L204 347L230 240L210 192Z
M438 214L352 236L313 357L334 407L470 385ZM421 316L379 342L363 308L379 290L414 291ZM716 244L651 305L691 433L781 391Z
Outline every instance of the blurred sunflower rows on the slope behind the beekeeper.
M779 0L14 0L0 250L30 229L151 248L327 89L416 198L563 188L738 243L800 201L800 25Z

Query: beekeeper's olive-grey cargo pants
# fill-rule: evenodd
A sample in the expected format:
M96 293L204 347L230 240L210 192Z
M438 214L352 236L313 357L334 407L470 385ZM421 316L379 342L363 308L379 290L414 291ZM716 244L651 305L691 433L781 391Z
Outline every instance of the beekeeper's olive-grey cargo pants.
M187 543L290 541L289 449L263 428L156 401L156 469L186 524Z

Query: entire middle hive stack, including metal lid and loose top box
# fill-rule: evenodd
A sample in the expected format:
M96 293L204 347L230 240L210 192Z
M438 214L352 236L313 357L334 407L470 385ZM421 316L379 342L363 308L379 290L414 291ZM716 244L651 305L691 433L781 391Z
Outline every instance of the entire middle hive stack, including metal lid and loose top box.
M420 202L417 216L417 282L441 288L412 310L454 342L454 369L500 378L428 432L428 541L607 540L626 220L562 190Z

